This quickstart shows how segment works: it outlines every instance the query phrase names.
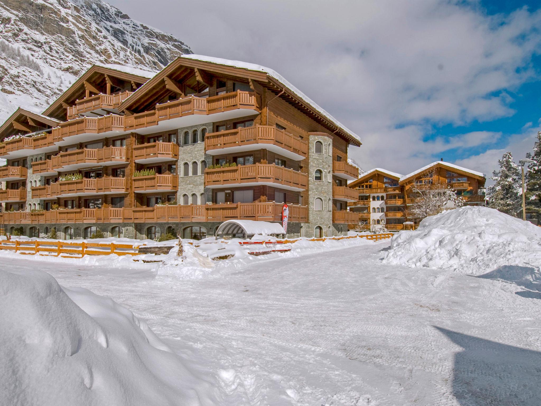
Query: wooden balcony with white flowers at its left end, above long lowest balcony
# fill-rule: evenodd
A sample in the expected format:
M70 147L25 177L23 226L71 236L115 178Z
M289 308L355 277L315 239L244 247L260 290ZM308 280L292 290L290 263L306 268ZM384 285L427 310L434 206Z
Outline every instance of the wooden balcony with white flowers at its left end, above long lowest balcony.
M56 182L51 185L51 197L108 194L126 192L125 178L106 176L98 179L77 179Z

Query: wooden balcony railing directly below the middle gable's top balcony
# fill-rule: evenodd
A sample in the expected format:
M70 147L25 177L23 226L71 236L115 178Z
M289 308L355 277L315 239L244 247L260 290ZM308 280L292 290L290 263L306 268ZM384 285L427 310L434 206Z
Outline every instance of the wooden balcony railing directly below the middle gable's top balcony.
M103 117L81 117L64 121L52 129L53 139L62 139L78 134L101 134L109 131L124 131L124 116L109 114Z

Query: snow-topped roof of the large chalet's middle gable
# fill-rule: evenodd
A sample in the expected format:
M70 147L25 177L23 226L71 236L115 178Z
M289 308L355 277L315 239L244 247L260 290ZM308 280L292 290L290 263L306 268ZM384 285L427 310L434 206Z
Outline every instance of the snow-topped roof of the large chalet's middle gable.
M99 77L100 81L104 81L105 75L120 79L126 82L134 82L138 87L141 84L147 82L149 77L154 76L156 73L144 69L137 69L131 67L125 67L115 64L94 64L85 73L83 73L58 99L56 99L44 112L46 116L54 116L65 120L65 107L63 103L70 106L75 103L77 99L83 99L85 95L84 82L91 82L95 78ZM135 90L135 89L133 89Z

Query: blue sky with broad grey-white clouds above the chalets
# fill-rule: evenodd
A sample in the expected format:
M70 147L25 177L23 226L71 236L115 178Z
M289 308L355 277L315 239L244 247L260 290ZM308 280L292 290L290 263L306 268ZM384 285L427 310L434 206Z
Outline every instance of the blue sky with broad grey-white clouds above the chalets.
M490 174L541 130L541 1L109 3L196 54L275 69L359 135L366 171Z

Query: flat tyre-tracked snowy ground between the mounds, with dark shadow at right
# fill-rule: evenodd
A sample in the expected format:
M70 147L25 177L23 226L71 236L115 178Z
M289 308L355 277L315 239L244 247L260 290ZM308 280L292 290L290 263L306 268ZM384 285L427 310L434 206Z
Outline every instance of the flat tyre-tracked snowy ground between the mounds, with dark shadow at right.
M383 264L388 240L343 247L231 261L200 278L27 256L4 256L2 269L39 268L133 311L189 372L179 404L206 383L202 404L541 404L536 292L494 275Z

